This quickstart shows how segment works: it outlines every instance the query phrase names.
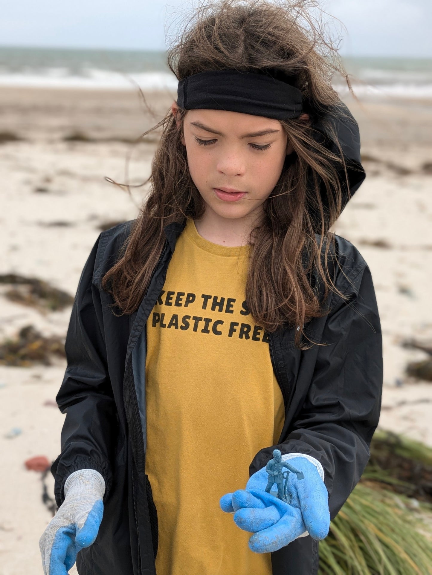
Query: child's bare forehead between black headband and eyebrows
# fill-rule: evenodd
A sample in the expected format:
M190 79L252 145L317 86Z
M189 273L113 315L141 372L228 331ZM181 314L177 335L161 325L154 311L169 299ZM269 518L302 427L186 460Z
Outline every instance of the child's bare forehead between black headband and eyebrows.
M212 128L223 135L242 136L249 132L259 132L263 130L272 130L282 133L282 125L279 120L266 118L263 116L253 116L252 114L243 114L240 112L231 112L231 110L188 110L185 114L185 124L192 129L199 129L193 124L202 124Z

